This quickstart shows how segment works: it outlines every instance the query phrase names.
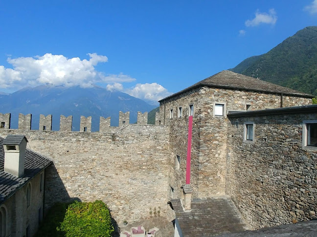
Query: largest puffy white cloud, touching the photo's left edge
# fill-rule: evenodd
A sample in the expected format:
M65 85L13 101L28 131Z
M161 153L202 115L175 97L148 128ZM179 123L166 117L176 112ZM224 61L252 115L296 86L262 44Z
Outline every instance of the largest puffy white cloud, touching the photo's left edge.
M5 68L0 65L0 88L19 89L25 86L53 84L64 86L91 87L96 82L131 82L136 79L128 75L104 75L95 70L100 62L107 62L106 56L96 53L88 54L89 60L68 59L63 55L45 54L35 57L8 58L13 66Z

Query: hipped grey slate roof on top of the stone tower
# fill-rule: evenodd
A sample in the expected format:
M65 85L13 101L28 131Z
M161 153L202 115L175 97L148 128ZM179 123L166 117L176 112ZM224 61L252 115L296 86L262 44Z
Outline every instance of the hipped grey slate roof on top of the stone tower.
M272 84L270 82L255 79L252 77L248 77L239 73L234 73L231 71L221 71L209 78L201 80L196 84L187 87L180 92L177 92L171 96L168 96L164 99L169 99L174 96L180 95L186 91L194 89L199 86L209 86L209 87L216 87L216 88L225 88L225 89L233 89L233 90L245 90L245 91L255 91L255 92L262 92L262 93L272 93L272 94L281 94L290 95L290 96L298 96L298 97L305 97L305 98L314 98L314 96L302 93L300 91L295 91L293 89L279 86ZM162 101L161 99L159 101Z

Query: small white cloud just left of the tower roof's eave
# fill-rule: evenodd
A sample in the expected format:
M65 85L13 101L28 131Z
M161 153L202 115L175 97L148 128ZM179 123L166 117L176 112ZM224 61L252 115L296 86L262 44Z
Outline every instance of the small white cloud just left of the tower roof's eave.
M163 99L172 94L168 92L166 88L164 88L156 82L145 84L138 83L135 87L126 89L124 92L129 94L130 96L134 96L139 99L144 99L149 102L154 102L155 104L157 104L158 100Z

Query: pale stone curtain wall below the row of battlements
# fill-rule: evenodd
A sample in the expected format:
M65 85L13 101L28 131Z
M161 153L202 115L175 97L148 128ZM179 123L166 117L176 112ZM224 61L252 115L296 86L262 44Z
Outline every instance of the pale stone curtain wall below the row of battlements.
M23 131L27 147L53 160L46 170L46 208L57 201L102 199L118 225L167 216L168 126L129 124L113 134ZM21 134L2 129L1 137Z

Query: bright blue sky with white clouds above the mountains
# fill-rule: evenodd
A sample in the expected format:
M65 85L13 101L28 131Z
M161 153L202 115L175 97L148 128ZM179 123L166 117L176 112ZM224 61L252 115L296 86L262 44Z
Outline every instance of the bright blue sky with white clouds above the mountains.
M97 84L157 101L317 25L317 0L0 0L0 91Z

